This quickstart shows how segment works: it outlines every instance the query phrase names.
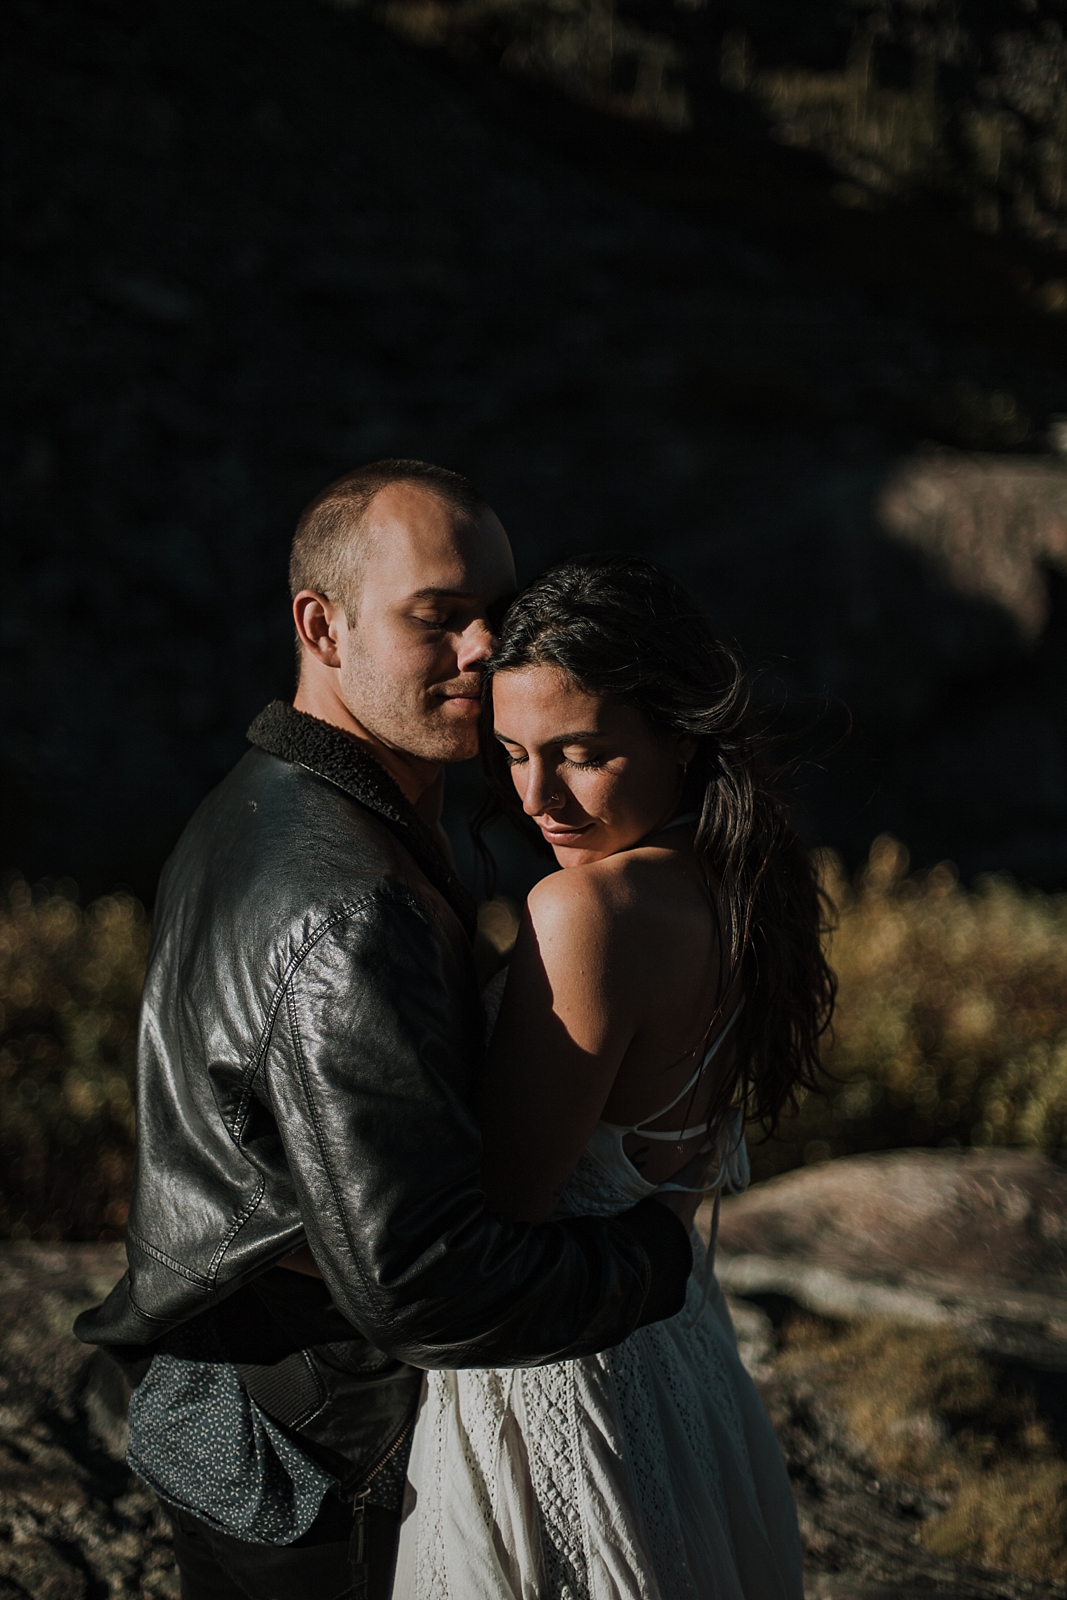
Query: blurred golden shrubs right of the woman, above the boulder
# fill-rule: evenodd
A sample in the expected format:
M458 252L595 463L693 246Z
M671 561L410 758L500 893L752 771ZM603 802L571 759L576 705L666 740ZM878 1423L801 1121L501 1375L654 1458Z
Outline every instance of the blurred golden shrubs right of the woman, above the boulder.
M824 856L824 882L832 1080L753 1147L757 1174L902 1146L1065 1149L1067 896L997 878L968 893L947 866L909 877L891 838L856 883Z

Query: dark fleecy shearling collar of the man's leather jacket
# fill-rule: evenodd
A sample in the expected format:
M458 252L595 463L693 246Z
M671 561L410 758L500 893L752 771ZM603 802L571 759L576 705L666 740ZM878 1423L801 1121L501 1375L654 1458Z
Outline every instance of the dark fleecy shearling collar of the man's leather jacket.
M467 934L474 938L477 907L472 896L445 861L422 818L358 739L330 722L296 710L286 701L270 701L253 722L246 738L267 755L307 766L338 789L344 789L368 811L374 811L414 856L434 888L456 912Z

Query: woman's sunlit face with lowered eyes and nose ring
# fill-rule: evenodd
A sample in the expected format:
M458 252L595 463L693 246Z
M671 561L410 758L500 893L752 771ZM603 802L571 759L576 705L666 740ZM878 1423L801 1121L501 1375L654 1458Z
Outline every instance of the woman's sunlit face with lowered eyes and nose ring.
M670 821L696 750L552 666L498 674L493 720L523 811L561 867L601 861Z

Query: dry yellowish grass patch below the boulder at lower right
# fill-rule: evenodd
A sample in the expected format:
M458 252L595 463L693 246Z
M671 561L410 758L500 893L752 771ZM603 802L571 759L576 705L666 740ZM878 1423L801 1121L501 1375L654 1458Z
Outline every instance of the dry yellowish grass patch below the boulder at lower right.
M1067 1461L1033 1395L947 1328L809 1317L782 1363L814 1381L872 1464L945 1494L923 1523L936 1555L1029 1578L1067 1578Z

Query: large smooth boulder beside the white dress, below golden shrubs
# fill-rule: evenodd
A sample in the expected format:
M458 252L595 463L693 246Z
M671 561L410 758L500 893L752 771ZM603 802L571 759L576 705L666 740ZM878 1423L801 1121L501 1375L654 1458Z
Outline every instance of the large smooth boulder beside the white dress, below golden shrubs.
M723 1200L717 1272L824 1317L955 1328L1067 1371L1067 1170L1035 1150L891 1150Z

